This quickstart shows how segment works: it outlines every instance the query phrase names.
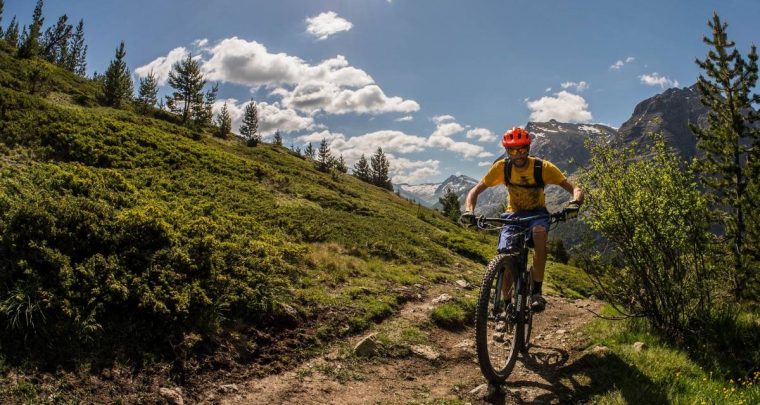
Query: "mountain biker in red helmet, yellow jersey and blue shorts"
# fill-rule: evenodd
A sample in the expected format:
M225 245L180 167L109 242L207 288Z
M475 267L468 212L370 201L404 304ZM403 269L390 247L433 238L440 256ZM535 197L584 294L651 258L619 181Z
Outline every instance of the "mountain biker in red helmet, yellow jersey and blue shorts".
M573 195L572 201L567 205L568 208L577 209L580 207L583 203L583 191L570 183L557 166L546 160L529 156L530 143L531 136L523 128L514 127L504 133L501 144L506 149L506 158L494 162L488 173L467 194L463 219L474 222L478 195L488 187L499 184L504 184L508 193L507 210L501 215L502 218L517 219L547 214L544 187L548 184L559 185ZM509 175L505 176L507 172ZM540 312L546 307L546 300L542 295L542 284L546 268L546 240L549 233L549 219L533 220L528 226L531 230L528 237L532 237L534 246L532 272L534 283L531 291L531 308L533 311ZM516 226L502 228L499 235L499 253L509 252L516 242L516 238L523 237L521 231L522 228ZM511 273L506 272L506 274ZM506 283L505 291L508 291L511 280L507 279Z

